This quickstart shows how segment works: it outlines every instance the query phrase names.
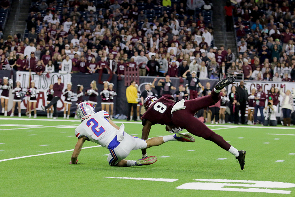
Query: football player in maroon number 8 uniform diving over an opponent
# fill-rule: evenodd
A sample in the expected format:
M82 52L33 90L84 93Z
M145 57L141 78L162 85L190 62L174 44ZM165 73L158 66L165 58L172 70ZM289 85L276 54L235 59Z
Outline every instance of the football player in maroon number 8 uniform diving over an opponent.
M161 98L149 96L144 100L146 112L142 116L142 139L148 139L150 128L154 124L166 125L166 130L175 133L185 128L191 134L212 141L221 148L235 155L240 167L244 170L246 151L238 151L214 133L194 115L197 111L214 105L220 98L220 91L235 81L234 77L226 77L215 85L211 95L199 97L193 100L180 100L175 102L170 95ZM146 149L142 149L142 158L147 157Z

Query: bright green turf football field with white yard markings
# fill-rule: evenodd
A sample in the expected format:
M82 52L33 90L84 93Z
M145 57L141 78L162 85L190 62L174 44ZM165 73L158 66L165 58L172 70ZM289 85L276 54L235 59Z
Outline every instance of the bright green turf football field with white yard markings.
M295 127L208 125L235 148L246 150L245 170L240 170L233 155L199 137L194 143L169 141L152 147L148 156L158 161L137 167L109 166L109 151L86 141L79 165L69 165L78 124L73 119L0 116L0 196L295 196ZM141 129L140 123L125 123L131 135L140 137ZM155 125L149 137L168 134ZM31 155L38 156L23 158ZM140 158L140 150L127 157Z

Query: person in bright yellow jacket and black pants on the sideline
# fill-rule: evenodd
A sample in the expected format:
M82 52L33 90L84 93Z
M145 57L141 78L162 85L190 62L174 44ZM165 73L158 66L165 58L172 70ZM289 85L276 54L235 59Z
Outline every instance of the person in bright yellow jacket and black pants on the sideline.
M133 106L133 120L137 121L136 108L137 108L137 89L135 87L136 82L131 81L130 86L126 89L126 98L128 102L128 114L127 121L130 121L131 107Z

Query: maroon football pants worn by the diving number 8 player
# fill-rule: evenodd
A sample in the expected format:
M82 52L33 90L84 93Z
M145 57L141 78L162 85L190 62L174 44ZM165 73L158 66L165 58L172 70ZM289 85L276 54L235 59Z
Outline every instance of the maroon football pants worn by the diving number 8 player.
M186 106L185 109L173 112L172 123L178 127L185 128L195 136L212 141L228 151L230 149L230 144L194 116L197 111L214 105L220 100L220 98L220 93L216 93L212 90L211 95L193 100L186 100L184 102L184 106Z

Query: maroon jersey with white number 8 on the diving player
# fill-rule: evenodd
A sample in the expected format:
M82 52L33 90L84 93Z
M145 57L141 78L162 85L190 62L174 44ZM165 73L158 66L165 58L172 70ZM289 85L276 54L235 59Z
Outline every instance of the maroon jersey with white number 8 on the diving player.
M142 115L142 125L149 120L153 125L171 125L171 110L175 105L174 98L170 95L165 95L153 103L148 110ZM184 118L184 117L183 117Z

